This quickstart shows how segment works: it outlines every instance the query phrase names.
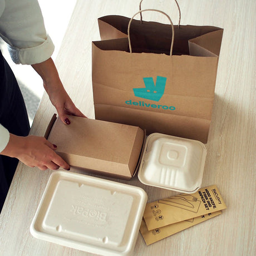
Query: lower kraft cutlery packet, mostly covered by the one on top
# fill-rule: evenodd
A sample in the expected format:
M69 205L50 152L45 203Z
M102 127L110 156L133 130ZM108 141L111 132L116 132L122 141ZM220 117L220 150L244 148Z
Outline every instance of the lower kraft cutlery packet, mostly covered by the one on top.
M215 211L215 213L201 215L201 216L198 216L193 219L183 220L178 223L174 223L174 224L162 227L162 228L156 228L153 230L147 230L145 220L142 219L141 226L140 226L140 232L142 234L142 237L145 240L146 245L150 245L150 244L155 243L161 239L170 237L170 235L176 234L184 229L193 227L196 224L199 224L199 223L209 220L215 216L218 216L221 213L222 213L221 211Z

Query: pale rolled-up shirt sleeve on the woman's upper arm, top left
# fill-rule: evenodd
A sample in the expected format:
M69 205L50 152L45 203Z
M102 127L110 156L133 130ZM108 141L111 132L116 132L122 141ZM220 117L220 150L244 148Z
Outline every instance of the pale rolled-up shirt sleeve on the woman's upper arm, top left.
M13 62L35 64L54 51L37 0L0 0L0 36L8 43Z

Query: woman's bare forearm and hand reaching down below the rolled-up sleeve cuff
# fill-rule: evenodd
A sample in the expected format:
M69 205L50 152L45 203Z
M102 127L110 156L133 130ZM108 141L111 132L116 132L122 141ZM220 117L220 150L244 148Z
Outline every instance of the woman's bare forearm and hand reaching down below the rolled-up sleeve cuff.
M64 124L70 124L70 120L67 115L86 117L77 109L70 99L70 96L68 96L62 85L60 77L58 76L58 72L52 58L49 58L42 63L34 64L32 67L42 77L43 87L45 87L52 105L55 106L58 116Z

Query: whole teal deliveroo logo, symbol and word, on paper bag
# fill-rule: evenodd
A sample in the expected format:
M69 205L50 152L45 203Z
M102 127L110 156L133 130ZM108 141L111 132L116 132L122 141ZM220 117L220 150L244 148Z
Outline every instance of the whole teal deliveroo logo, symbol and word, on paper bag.
M166 79L167 79L166 77L157 76L156 84L155 84L152 77L143 77L145 88L133 88L134 95L142 99L159 101L161 97L164 95ZM144 101L137 102L137 101L127 100L125 101L125 104L141 106L141 107L152 107L153 109L175 110L174 106L156 105L156 104L146 103Z

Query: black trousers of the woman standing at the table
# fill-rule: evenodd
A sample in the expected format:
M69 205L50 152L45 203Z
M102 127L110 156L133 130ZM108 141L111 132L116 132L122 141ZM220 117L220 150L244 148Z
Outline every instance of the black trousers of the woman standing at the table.
M0 124L12 134L27 136L29 121L17 80L0 51ZM18 159L0 155L0 211L18 164Z

